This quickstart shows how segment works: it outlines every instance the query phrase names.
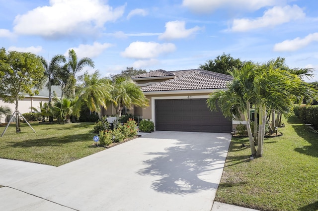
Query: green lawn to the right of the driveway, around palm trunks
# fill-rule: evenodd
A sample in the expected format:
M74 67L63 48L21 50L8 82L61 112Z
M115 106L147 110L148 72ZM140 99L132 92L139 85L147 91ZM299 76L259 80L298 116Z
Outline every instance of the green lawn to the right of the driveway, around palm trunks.
M293 116L249 159L247 138L233 138L215 200L261 211L318 210L318 134Z

